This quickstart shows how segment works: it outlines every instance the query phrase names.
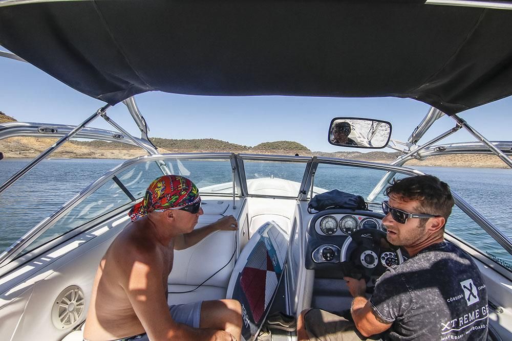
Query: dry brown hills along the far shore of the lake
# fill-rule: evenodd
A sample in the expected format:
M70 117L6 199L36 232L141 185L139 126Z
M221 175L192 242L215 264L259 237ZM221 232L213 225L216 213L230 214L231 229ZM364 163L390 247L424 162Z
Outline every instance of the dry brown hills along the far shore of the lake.
M16 120L0 111L0 123L15 122ZM57 140L51 138L16 137L0 140L0 151L6 158L35 157L49 148ZM351 160L391 163L399 152L360 151L343 152L311 152L304 145L293 141L274 141L260 143L255 147L238 145L215 139L176 140L153 138L151 141L159 148L160 153L177 152L234 152L254 154L315 155L325 157L338 157ZM105 141L69 141L52 153L52 157L75 158L122 158L129 159L147 153L137 146L126 145L119 142ZM495 155L439 155L427 158L424 161L411 160L406 166L442 166L442 167L496 167L507 168L505 163Z

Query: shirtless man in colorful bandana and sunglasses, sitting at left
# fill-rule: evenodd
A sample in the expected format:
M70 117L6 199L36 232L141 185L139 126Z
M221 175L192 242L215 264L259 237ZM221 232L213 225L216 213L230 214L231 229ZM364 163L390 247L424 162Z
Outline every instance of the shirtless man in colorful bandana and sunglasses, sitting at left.
M240 340L238 301L167 306L174 250L217 230L237 230L236 219L223 217L194 230L203 214L201 197L189 179L177 175L153 181L129 214L132 222L99 264L84 339Z

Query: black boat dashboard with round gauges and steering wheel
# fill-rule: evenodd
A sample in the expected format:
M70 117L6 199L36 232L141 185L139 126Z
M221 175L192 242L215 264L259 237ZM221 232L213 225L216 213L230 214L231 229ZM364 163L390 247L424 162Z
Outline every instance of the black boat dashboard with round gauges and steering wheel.
M315 277L339 278L351 270L374 277L399 264L403 258L386 241L383 217L378 212L347 209L316 213L306 230L306 268L314 269Z

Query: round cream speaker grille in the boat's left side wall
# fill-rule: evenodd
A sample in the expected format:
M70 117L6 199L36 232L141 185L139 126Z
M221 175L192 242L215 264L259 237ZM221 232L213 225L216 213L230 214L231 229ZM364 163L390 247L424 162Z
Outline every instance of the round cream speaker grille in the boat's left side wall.
M82 289L71 285L62 290L55 299L52 307L52 322L58 329L67 329L76 326L83 314L86 300Z

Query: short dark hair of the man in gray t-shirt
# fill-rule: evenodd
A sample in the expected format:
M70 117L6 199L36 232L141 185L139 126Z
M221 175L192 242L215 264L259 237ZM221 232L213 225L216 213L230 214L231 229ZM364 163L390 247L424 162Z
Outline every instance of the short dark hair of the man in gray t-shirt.
M403 201L418 200L422 214L442 216L447 221L452 213L454 200L450 186L433 175L416 175L400 180L393 179L384 193L394 194Z

